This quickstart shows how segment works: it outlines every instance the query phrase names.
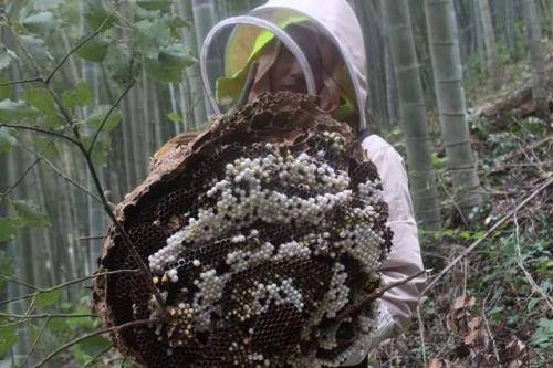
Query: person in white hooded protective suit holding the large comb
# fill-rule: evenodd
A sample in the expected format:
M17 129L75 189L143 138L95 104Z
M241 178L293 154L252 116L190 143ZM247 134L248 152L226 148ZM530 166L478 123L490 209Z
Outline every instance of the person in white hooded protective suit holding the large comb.
M358 130L380 175L394 231L389 256L382 266L383 281L401 281L422 270L404 161L383 138L367 133L363 32L345 0L270 0L247 15L216 25L206 39L201 62L216 114L232 108L249 82L250 101L263 91L315 94L321 108ZM420 275L384 294L374 339L345 366L366 367L367 355L406 327L425 280Z

